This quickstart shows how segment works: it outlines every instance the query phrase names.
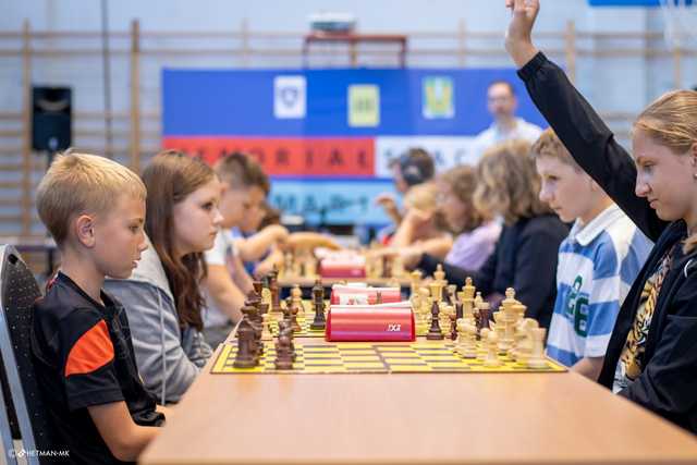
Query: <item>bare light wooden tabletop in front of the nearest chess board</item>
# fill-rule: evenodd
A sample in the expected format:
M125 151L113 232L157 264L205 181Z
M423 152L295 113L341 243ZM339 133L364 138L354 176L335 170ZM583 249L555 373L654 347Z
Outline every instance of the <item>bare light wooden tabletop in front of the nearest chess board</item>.
M210 375L212 362L142 463L697 463L695 437L571 372Z

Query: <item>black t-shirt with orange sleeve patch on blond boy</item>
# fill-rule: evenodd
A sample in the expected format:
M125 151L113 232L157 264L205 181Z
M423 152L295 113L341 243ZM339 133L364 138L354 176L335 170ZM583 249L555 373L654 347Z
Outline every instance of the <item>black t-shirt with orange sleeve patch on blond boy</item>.
M105 305L59 273L34 308L32 353L52 426L54 449L72 463L120 463L101 439L87 407L125 402L133 420L159 426L135 364L129 320L106 293Z

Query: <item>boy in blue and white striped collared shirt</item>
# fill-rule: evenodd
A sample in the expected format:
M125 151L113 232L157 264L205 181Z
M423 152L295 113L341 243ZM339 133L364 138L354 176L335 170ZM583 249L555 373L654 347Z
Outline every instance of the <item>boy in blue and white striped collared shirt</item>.
M540 200L574 225L559 248L547 353L597 380L620 306L652 244L550 129L533 145Z

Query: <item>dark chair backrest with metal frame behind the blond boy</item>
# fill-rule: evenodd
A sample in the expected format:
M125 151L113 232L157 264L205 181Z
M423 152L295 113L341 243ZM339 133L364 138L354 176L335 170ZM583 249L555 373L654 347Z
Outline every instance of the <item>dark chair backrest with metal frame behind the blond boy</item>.
M11 246L0 246L0 378L12 433L25 451L52 449L48 414L32 360L34 303L41 296L34 276ZM38 464L38 454L27 455Z

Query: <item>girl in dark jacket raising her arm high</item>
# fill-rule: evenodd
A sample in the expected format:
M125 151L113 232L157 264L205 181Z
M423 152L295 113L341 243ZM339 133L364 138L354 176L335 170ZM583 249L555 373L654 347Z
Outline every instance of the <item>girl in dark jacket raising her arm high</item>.
M632 158L533 45L539 1L506 5L513 9L506 49L535 105L578 164L656 243L622 305L599 382L697 432L697 93L669 93L644 110Z

